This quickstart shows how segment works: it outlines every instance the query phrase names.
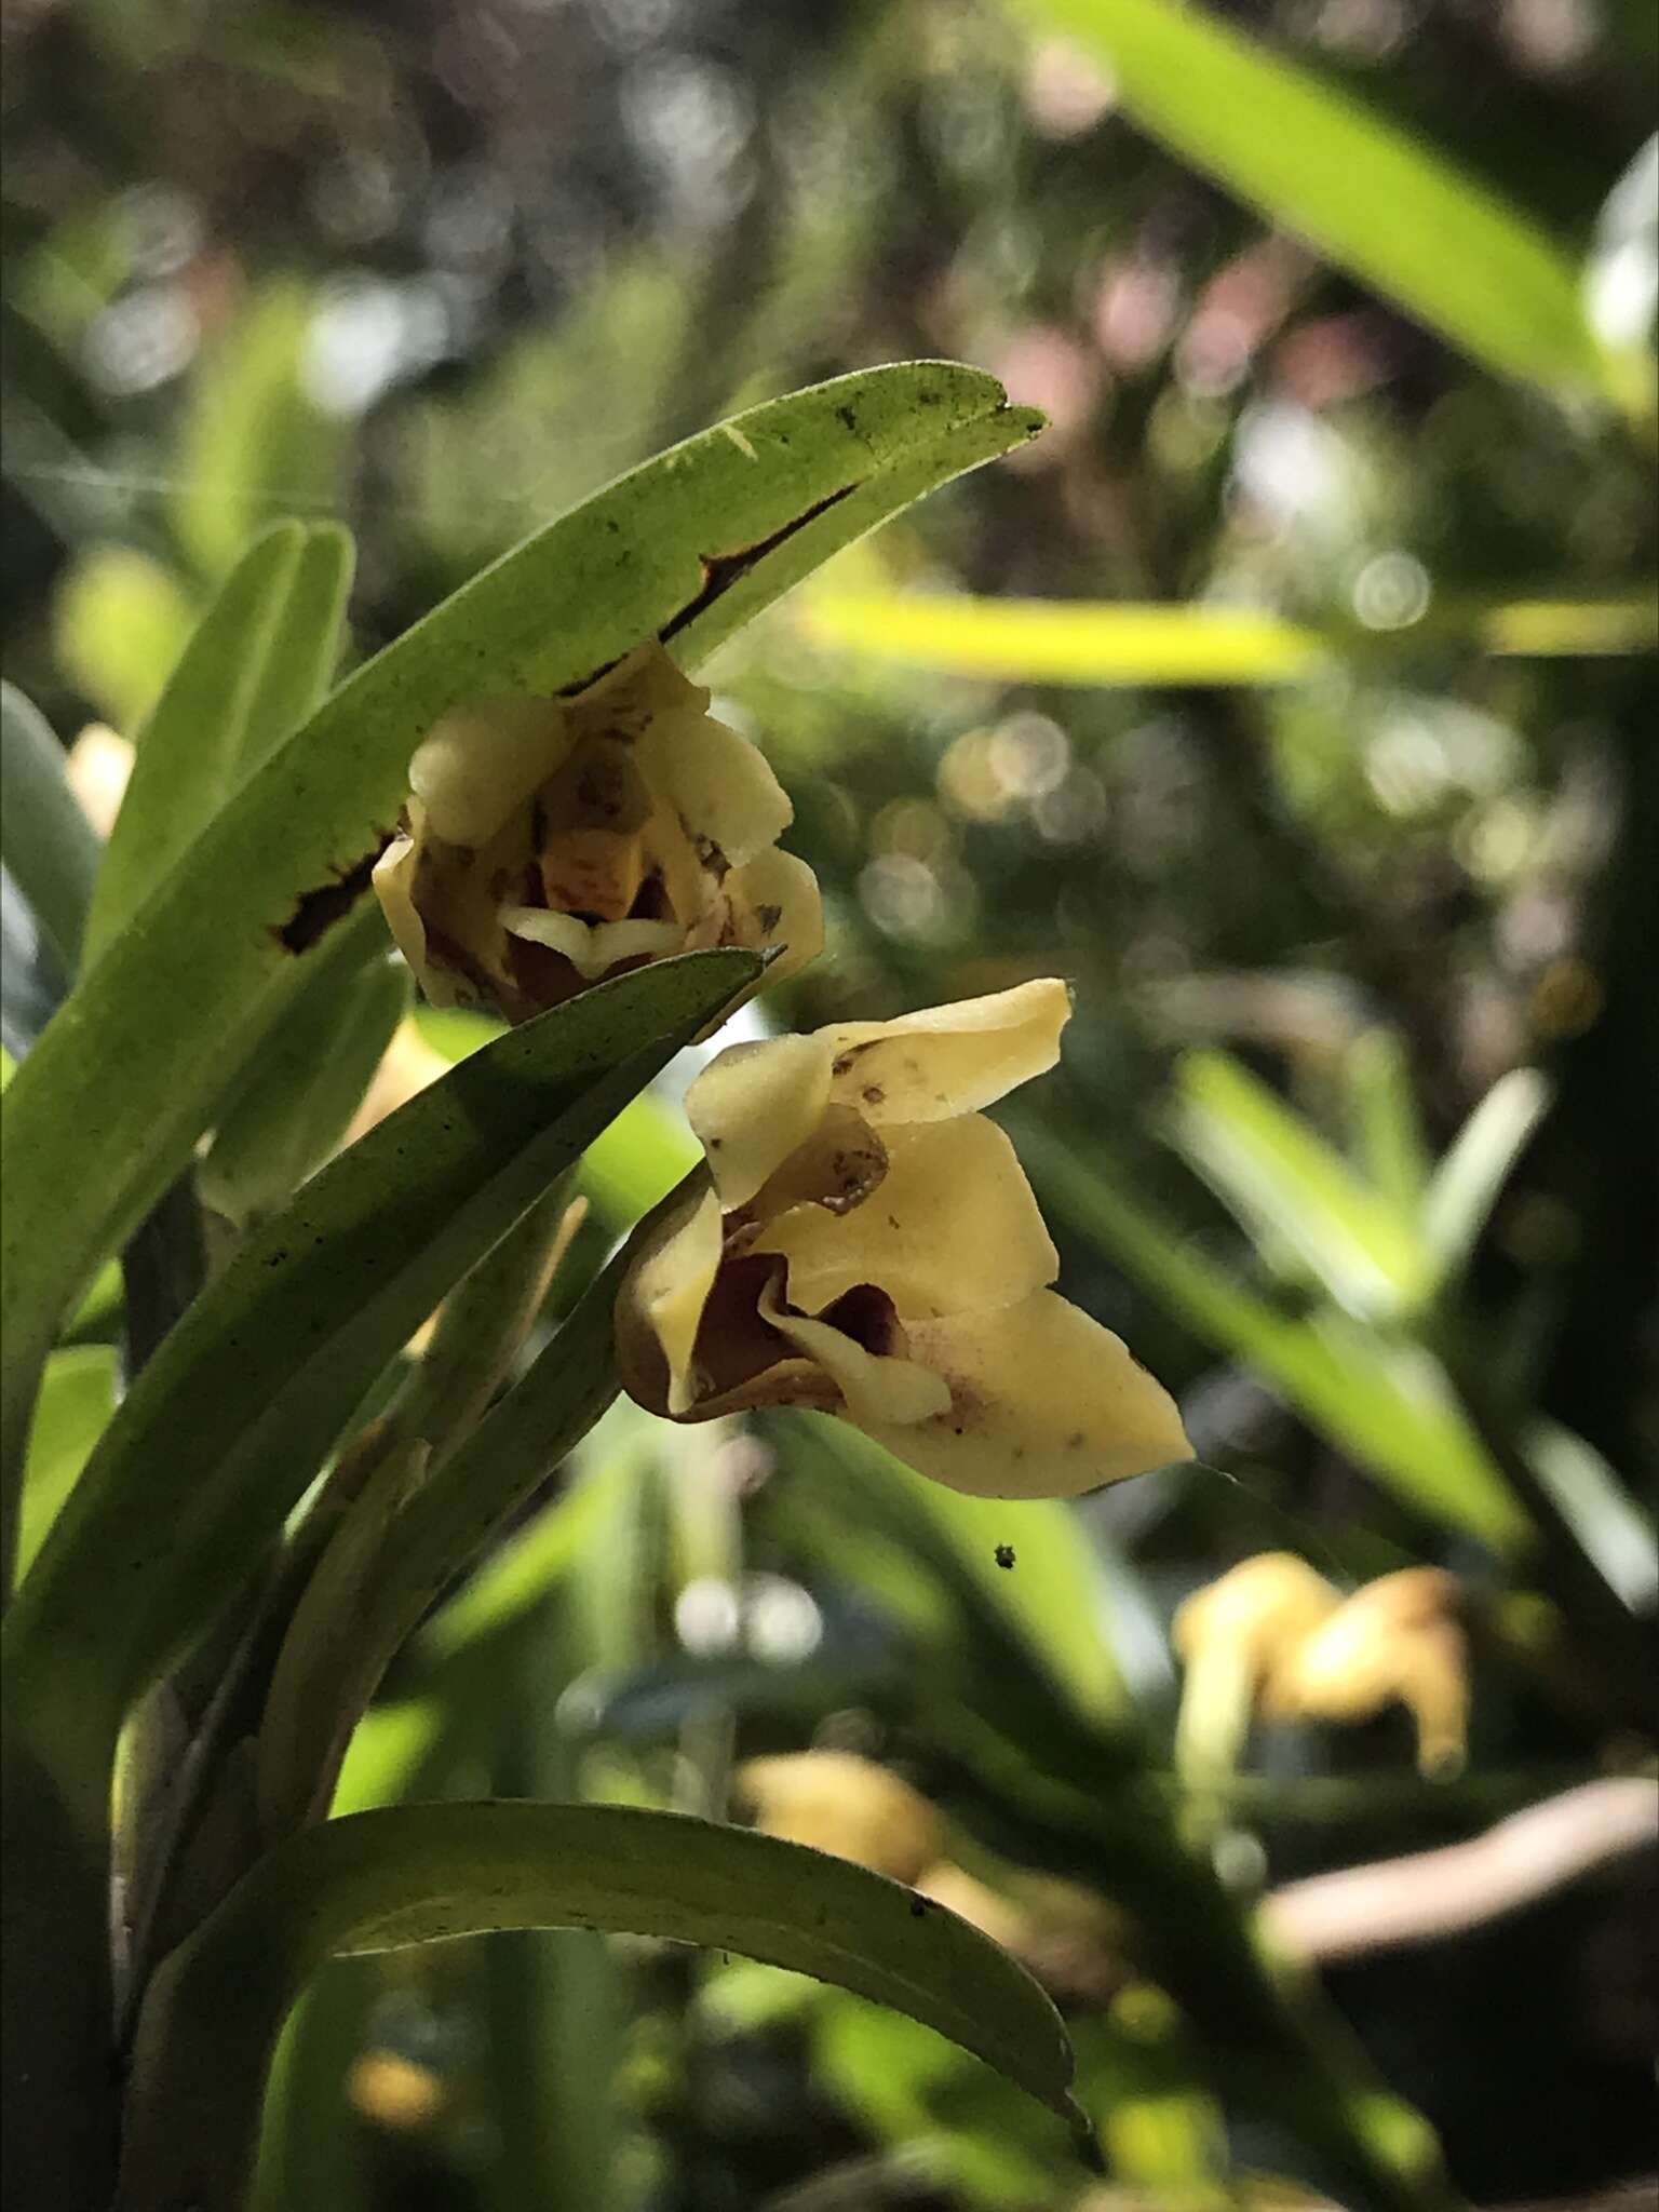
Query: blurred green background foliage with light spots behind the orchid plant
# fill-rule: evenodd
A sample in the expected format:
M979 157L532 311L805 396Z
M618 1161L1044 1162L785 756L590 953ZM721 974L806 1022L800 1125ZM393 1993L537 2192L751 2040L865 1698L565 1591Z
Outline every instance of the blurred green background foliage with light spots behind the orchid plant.
M1172 148L1225 115L1248 168L1272 108L1259 139L1248 100L1206 122L1194 75L1183 115L1157 53L1117 82L1106 0L7 11L0 619L64 741L142 732L272 518L356 531L367 655L748 400L945 354L1048 411L710 675L825 885L796 1024L1077 984L1064 1073L1006 1119L1068 1294L1206 1462L1000 1509L812 1422L619 1413L427 1624L343 1781L719 1814L754 1756L896 1770L938 1809L938 1893L1064 2006L1110 2183L854 1997L502 1936L323 1978L270 2212L1314 2201L1296 2084L1241 2088L1248 2053L1155 1986L1183 1891L1148 1887L1141 1796L1243 1909L1650 1756L1655 18L1219 13L1464 181L1367 199L1292 133L1263 212ZM1475 186L1542 272L1535 332L1460 234ZM62 987L15 929L13 1055ZM422 1022L445 1057L484 1033ZM644 1099L595 1148L582 1259L686 1141ZM49 1371L35 1526L108 1418L115 1301ZM1261 1551L1455 1577L1460 1772L1418 1776L1387 1705L1177 1778L1172 1613ZM1482 2203L1650 2161L1639 1865L1325 1964L1407 2163L1376 2084Z

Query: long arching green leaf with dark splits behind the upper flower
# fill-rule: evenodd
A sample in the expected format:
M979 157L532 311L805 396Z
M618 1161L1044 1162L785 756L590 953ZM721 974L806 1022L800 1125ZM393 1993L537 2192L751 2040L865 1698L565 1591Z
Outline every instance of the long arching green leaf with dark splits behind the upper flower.
M480 692L582 686L653 635L697 666L834 551L1037 427L993 378L951 363L770 400L473 577L279 745L7 1093L0 1467L20 1462L62 1312L186 1161L307 956L367 896L436 717Z

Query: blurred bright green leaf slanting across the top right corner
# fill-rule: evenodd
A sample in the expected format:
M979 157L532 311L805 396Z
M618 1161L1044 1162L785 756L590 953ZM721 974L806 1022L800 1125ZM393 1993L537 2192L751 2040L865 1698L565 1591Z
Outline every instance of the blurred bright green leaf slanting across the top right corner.
M1102 58L1117 102L1473 361L1557 392L1630 396L1573 261L1515 206L1314 71L1183 0L1018 0Z

